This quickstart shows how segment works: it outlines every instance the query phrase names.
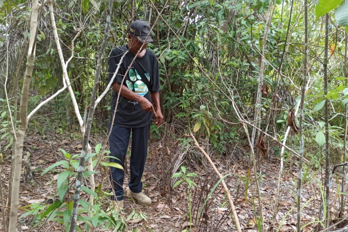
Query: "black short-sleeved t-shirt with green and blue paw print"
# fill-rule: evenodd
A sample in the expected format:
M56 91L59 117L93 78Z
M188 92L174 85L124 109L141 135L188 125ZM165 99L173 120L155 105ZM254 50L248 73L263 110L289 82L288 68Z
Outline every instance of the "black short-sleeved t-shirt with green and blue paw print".
M111 78L116 71L121 57L127 51L127 49L128 46L122 46L114 48L111 51L109 57L109 82L111 81ZM113 82L121 83L125 72L127 71L128 66L132 62L133 58L134 54L129 50L126 56L123 58L118 73L116 74ZM136 94L147 98L151 102L150 93L157 93L160 91L158 61L152 51L147 49L144 56L137 57L135 59L132 67L130 67L127 73L123 85L124 86L122 88L129 88ZM110 123L112 122L117 95L118 93L113 91ZM117 105L114 125L123 127L144 127L149 125L152 117L153 113L144 111L139 102L120 96L119 103Z

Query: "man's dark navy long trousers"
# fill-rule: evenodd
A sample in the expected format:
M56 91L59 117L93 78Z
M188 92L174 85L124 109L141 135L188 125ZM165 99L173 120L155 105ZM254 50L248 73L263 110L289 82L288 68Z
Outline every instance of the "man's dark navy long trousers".
M110 131L111 123L109 124ZM115 162L125 168L125 158L129 143L130 131L132 130L132 150L130 153L129 170L130 180L128 183L129 189L132 192L139 193L143 188L141 177L143 175L147 151L150 124L145 127L127 128L121 126L113 126L109 137L111 156L109 162ZM110 182L113 185L117 200L122 200L124 196L123 181L125 172L122 169L110 168ZM111 200L114 200L114 196Z

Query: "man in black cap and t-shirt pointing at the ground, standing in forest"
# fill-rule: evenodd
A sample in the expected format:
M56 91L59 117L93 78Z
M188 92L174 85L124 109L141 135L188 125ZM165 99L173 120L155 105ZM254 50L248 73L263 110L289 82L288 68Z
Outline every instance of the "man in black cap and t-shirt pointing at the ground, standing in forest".
M128 50L112 83L113 97L109 122L110 131L121 81L134 56L139 51L134 63L130 66L129 72L126 74L121 88L109 143L111 155L115 157L115 159L110 159L110 162L119 163L125 168L124 161L130 132L132 131L132 150L129 162L130 180L127 195L141 205L151 204L151 199L142 193L141 182L147 157L150 122L153 115L156 117L157 126L160 126L163 121L159 105L158 61L155 54L146 49L148 43L152 41L150 30L151 27L147 22L142 20L134 21L128 31L128 45L113 49L109 58L110 82L121 57ZM140 50L141 47L142 49ZM155 107L151 104L151 100ZM122 187L124 174L124 170L110 167L110 181L115 192L111 199L115 200L116 198L121 208L123 207L124 198Z

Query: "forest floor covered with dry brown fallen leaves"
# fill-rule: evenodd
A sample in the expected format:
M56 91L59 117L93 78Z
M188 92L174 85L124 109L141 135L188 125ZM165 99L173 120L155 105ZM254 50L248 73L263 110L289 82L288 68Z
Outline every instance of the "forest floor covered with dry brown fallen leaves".
M30 152L31 168L33 174L33 181L30 183L24 183L24 175L21 178L21 192L19 215L25 213L30 207L25 208L33 203L47 203L50 205L52 199L56 200L56 179L59 168L56 168L56 172L48 172L41 176L41 173L45 168L53 163L65 159L64 155L58 149L64 149L70 154L78 154L81 152L82 139L69 139L60 134L50 133L46 131L45 136L37 134L28 134L24 143L24 154ZM91 144L94 147L97 143L105 141L106 136L92 136ZM172 141L173 143L175 141ZM4 145L4 144L1 144ZM174 144L175 145L175 144ZM180 146L174 146L172 149L179 149ZM162 146L159 142L150 142L149 145L149 157L145 167L145 173L143 178L144 192L148 194L152 199L152 204L148 207L136 205L133 201L125 200L124 216L128 217L129 214L135 210L136 213L142 213L147 217L147 221L135 218L129 220L127 223L128 231L132 231L133 228L139 228L138 231L182 231L183 224L187 221L187 208L189 204L189 193L192 193L191 199L193 201L192 206L194 208L193 214L197 214L202 203L205 199L203 185L207 185L206 192L212 189L213 185L217 182L215 174L209 171L209 167L204 167L205 161L202 162L201 169L198 174L199 178L203 181L203 185L198 185L197 194L195 191L188 191L185 185L179 185L172 190L172 194L168 197L167 186L163 184L161 176L163 174L163 154ZM193 149L193 148L192 148ZM243 151L243 148L240 150ZM174 153L173 153L174 154ZM8 155L8 154L7 154ZM247 149L245 149L245 157L247 155ZM173 159L175 159L173 157ZM200 158L203 159L203 156ZM254 232L256 229L256 219L254 212L258 211L258 199L256 187L254 184L254 173L250 171L250 178L248 176L247 160L240 159L240 161L227 161L222 162L221 158L213 157L213 161L218 166L222 175L232 174L226 178L227 185L230 187L232 197L235 199L235 206L239 220L243 231ZM24 159L23 159L24 161ZM260 191L263 205L263 231L268 231L272 224L272 215L274 210L274 200L277 193L277 182L279 175L280 159L275 157L269 162L269 160L262 160L260 163ZM189 167L188 167L189 168ZM8 158L3 165L3 172L1 175L3 182L3 189L5 189L5 195L8 190L8 176L10 170L10 159ZM180 169L179 169L180 170ZM177 171L179 171L177 170ZM260 175L262 174L262 175ZM128 181L126 175L125 185ZM302 231L318 231L318 215L321 205L321 179L320 171L309 170L307 173L307 181L303 184L302 190ZM284 162L283 175L280 186L280 199L278 205L278 213L276 215L276 225L279 226L279 231L295 231L296 230L296 217L297 217L297 166L295 160L293 160L290 166L289 162ZM96 186L103 183L103 190L108 190L107 174L101 172L96 175ZM212 180L209 182L209 180ZM87 180L88 182L88 180ZM209 183L209 184L207 184ZM335 218L338 214L339 201L336 182L333 180L333 187L331 188L331 217ZM245 194L245 186L250 185L247 194ZM70 189L70 195L73 195L74 188ZM193 196L195 195L195 196ZM207 195L207 193L205 193ZM198 197L197 197L198 196ZM88 195L81 194L81 198L88 200ZM199 198L203 198L199 200ZM168 202L170 199L170 202ZM5 198L5 201L7 199ZM103 199L103 209L108 208L109 200ZM199 207L197 207L199 206ZM198 229L192 229L192 231L236 231L232 214L229 214L229 207L226 201L224 191L221 186L218 186L212 194L211 199L208 201L208 205L204 209L203 217L199 219ZM345 208L345 216L347 218L348 207ZM64 231L63 225L58 222L48 221L41 228L40 226L31 229L30 223L34 218L33 215L19 219L18 231ZM187 224L187 223L186 223ZM1 230L0 230L1 231ZM112 231L110 229L104 230L101 228L92 229L91 231ZM188 229L189 231L189 229Z

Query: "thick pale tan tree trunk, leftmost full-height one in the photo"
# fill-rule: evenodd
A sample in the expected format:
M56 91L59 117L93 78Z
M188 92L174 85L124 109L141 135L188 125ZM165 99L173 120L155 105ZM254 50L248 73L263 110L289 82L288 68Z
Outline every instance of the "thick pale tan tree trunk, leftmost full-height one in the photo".
M10 221L9 221L9 232L15 232L17 226L17 214L18 214L18 198L19 198L19 184L22 170L22 155L23 155L23 142L25 138L25 131L28 125L27 121L27 103L30 89L31 76L34 69L35 63L35 48L36 48L36 33L38 27L38 15L39 15L40 4L38 0L33 0L31 20L30 20L30 39L29 49L27 55L26 69L23 80L20 114L19 114L19 128L16 133L17 140L14 144L15 149L14 157L14 169L11 191L11 209L10 209Z

